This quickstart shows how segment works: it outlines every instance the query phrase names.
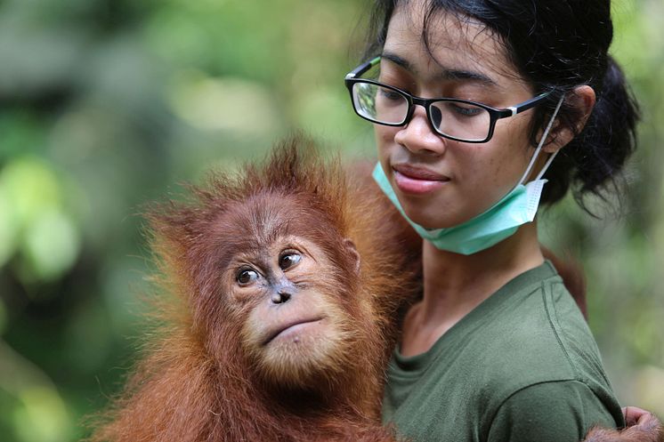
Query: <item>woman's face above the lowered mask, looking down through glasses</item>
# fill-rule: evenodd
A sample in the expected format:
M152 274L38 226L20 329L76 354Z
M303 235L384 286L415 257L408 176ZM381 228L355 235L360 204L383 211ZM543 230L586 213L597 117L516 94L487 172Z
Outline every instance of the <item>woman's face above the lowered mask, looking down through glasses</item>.
M507 108L533 92L489 30L441 12L422 41L420 1L390 21L379 80L423 98L449 97ZM425 108L408 125L376 125L378 157L404 211L427 228L447 228L484 212L525 172L532 110L498 120L490 141L451 141L433 132Z

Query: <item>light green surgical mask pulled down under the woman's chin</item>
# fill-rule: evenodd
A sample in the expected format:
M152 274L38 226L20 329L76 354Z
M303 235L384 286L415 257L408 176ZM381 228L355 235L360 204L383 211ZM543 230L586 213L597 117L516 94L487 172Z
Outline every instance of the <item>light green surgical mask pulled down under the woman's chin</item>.
M374 169L374 180L377 181L380 189L385 192L385 195L390 198L393 205L399 209L403 217L409 221L410 225L413 226L420 237L425 238L441 250L466 255L480 252L492 245L498 244L503 239L514 235L514 232L516 232L522 224L531 222L535 219L535 215L538 211L539 197L542 194L542 189L544 189L544 184L547 182L547 180L542 179L542 176L547 172L547 168L551 165L557 152L548 158L547 164L544 165L535 180L530 181L525 185L522 182L528 178L530 170L535 164L535 160L544 145L544 141L547 139L547 135L555 121L555 116L562 104L563 98L558 102L554 115L551 117L547 129L542 134L538 147L535 149L535 153L530 159L530 164L526 168L525 173L523 173L522 179L514 189L510 190L505 197L500 198L500 200L495 205L492 205L486 212L480 213L474 218L462 222L457 226L445 229L426 229L425 227L420 226L416 222L411 221L406 213L403 212L401 203L394 194L392 185L387 179L385 171L380 164L377 164Z

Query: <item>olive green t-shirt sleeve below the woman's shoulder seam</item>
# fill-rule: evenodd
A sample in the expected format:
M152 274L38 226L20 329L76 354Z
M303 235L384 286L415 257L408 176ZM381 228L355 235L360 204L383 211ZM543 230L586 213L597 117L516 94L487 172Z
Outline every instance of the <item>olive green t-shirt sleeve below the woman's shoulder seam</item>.
M488 442L579 442L595 425L615 428L611 414L583 382L543 382L499 407Z

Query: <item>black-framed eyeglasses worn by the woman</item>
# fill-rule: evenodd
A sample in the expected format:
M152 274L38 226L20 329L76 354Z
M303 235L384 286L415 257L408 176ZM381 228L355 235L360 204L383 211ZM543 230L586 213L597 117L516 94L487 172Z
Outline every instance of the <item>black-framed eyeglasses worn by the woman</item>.
M358 78L373 68L380 56L362 63L345 76L351 92L352 108L360 117L377 125L406 125L413 117L415 106L426 109L426 117L436 133L455 141L482 143L493 136L496 122L501 118L534 107L551 92L544 92L530 100L509 108L492 108L486 104L451 98L425 99L410 95L398 87L375 80Z

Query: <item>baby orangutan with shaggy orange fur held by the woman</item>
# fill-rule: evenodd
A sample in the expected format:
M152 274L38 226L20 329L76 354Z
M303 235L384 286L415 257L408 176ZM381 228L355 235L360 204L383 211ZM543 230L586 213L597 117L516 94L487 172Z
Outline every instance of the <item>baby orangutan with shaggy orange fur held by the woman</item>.
M152 211L174 301L93 441L395 440L380 401L421 240L376 186L301 144Z

